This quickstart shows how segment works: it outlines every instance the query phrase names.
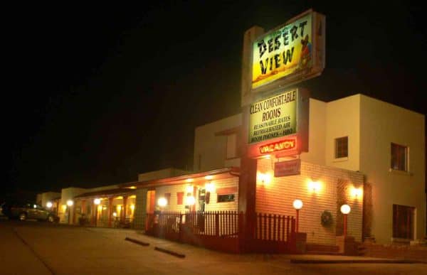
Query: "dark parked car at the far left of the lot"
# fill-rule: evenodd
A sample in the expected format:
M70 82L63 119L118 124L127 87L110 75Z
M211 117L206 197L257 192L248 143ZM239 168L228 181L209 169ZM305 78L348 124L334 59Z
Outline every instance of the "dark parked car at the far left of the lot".
M4 203L1 205L1 212L9 219L59 222L59 217L54 212L36 203Z

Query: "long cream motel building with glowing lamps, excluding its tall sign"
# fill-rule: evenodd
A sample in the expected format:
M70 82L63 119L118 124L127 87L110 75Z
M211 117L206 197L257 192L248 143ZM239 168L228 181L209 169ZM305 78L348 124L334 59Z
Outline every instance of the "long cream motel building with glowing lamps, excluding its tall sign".
M228 252L243 251L241 232L254 244L246 251L290 251L292 232L307 247L337 247L344 230L355 242L424 239L424 116L360 94L308 105L308 151L283 156L292 147L278 145L246 158L252 185L241 168L243 114L236 114L196 128L193 172L168 168L132 183L65 188L41 194L41 204L56 198L63 223L131 227ZM249 229L240 201L248 186L255 194ZM342 205L349 205L345 216ZM179 235L183 225L199 243Z

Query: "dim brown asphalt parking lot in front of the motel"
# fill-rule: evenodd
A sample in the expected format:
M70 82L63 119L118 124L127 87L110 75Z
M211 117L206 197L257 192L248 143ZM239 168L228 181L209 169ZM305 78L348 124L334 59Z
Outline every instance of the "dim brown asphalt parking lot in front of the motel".
M427 264L292 264L292 255L225 254L135 230L48 222L1 219L0 238L0 274L427 274Z

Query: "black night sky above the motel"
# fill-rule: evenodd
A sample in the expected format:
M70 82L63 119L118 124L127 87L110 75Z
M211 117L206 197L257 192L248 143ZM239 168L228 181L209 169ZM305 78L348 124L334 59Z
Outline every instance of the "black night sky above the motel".
M10 11L3 190L93 187L192 168L194 127L240 112L243 32L310 8L327 18L325 71L301 84L312 97L362 92L426 113L418 4L152 2Z

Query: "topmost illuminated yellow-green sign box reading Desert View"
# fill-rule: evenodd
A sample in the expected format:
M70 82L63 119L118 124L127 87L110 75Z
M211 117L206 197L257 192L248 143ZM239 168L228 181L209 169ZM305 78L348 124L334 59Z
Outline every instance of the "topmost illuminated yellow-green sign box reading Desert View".
M324 68L325 16L311 10L252 45L252 89L275 80L282 86L294 84L320 75Z

